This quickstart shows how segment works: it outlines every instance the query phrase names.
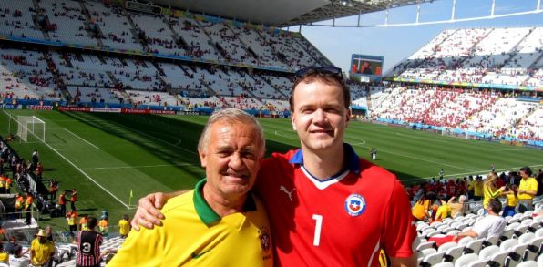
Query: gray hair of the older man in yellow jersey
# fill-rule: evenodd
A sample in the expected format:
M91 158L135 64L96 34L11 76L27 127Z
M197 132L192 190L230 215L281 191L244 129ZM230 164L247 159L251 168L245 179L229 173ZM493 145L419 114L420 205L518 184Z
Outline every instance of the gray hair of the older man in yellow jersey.
M210 143L210 128L217 122L225 122L230 125L235 123L253 125L257 129L259 143L261 144L260 156L264 156L264 152L266 151L266 139L264 139L264 131L262 130L261 124L256 118L238 108L224 108L211 114L210 118L208 118L206 126L201 132L200 140L198 141L198 151L205 151L205 149L207 149L208 144Z

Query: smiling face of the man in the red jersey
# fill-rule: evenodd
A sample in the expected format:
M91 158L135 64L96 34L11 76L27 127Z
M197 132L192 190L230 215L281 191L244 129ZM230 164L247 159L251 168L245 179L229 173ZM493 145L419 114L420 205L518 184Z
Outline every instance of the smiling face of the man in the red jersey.
M345 108L343 89L321 79L302 81L292 95L292 127L302 149L314 153L343 147L343 132L350 111Z

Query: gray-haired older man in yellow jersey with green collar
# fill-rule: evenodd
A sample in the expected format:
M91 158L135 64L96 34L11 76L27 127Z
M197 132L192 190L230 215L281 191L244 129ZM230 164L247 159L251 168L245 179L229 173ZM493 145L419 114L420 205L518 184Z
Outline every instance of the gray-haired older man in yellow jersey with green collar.
M206 179L170 199L163 227L132 231L108 266L271 266L266 212L251 194L264 153L261 126L239 109L211 115L198 144Z

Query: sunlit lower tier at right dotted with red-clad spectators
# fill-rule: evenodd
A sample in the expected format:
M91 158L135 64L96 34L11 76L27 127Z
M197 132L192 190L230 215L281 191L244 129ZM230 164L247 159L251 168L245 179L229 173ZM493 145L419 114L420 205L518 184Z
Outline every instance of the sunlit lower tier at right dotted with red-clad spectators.
M500 139L540 140L541 107L515 93L446 87L372 91L371 117L459 128Z

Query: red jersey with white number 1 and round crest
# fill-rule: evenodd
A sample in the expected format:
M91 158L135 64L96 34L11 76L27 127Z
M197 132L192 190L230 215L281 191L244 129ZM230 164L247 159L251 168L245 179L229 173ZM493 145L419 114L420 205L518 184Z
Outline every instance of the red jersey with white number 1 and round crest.
M303 168L302 150L261 163L261 194L279 266L379 266L379 251L410 257L416 229L405 189L345 145L348 166L328 180Z

